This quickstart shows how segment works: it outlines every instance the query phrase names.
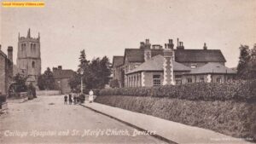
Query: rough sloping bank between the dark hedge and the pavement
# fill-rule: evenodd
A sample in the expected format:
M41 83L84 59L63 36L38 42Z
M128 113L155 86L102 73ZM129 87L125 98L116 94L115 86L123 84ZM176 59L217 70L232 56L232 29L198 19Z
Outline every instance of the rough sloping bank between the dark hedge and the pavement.
M189 101L131 95L97 96L95 101L256 141L255 101Z

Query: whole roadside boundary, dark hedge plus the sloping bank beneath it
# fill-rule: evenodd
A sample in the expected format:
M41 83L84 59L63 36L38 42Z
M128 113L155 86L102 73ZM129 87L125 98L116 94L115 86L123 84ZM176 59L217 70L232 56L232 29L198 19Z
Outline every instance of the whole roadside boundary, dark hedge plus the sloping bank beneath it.
M255 141L254 84L255 81L102 89L96 102Z

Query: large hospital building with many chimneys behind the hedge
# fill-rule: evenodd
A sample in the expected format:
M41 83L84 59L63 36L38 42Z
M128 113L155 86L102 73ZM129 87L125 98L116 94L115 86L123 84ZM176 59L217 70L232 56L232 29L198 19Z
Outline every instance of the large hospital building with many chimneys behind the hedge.
M113 56L113 79L119 87L159 86L187 83L224 83L233 80L236 72L225 66L220 49L185 49L177 38L164 44L151 45L149 39L137 49L125 49L124 55Z

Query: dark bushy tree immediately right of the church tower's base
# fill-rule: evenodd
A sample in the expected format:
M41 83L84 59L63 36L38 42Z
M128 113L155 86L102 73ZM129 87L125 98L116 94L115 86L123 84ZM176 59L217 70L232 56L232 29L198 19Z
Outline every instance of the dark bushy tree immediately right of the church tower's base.
M53 77L53 72L50 71L49 67L44 71L44 74L38 77L38 88L41 90L55 89L55 79Z

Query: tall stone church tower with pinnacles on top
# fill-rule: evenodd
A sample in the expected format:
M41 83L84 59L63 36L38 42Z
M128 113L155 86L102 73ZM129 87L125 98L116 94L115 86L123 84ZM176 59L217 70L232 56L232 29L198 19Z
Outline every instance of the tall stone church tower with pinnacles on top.
M40 34L31 37L28 29L26 37L18 37L18 72L24 74L27 83L37 84L38 75L41 74Z

